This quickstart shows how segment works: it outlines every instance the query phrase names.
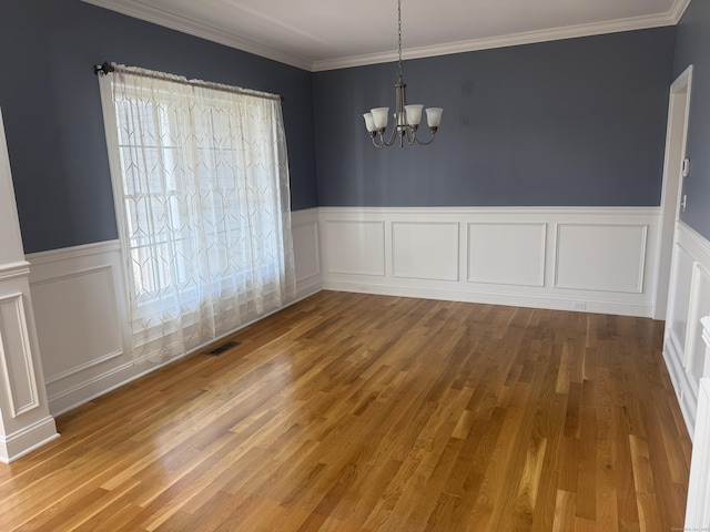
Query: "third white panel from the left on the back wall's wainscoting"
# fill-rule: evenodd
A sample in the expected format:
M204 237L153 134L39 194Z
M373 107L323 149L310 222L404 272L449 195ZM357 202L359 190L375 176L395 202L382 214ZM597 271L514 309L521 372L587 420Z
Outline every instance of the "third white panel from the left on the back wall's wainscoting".
M547 224L468 224L468 279L545 285Z

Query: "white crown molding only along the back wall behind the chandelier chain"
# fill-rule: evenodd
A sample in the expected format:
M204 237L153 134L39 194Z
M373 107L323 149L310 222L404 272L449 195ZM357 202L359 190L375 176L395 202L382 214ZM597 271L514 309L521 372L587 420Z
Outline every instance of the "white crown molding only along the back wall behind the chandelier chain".
M410 48L403 50L402 57L403 59L432 58L436 55L448 55L452 53L474 52L495 48L517 47L520 44L534 44L539 42L560 41L564 39L674 25L682 17L683 12L690 4L690 1L691 0L677 0L673 8L665 14L635 17L630 19L613 20L610 22L599 22L596 24L569 25L551 30L528 31L487 39L474 39L469 41L437 44L434 47ZM328 61L316 61L313 63L312 71L321 72L326 70L348 69L353 66L365 66L367 64L389 63L397 61L397 51L390 51Z

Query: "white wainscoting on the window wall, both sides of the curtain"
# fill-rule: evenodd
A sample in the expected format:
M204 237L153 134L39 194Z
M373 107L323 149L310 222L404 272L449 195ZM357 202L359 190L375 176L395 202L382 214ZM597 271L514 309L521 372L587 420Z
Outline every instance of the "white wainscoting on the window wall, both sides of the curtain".
M292 229L303 298L321 289L317 209L292 213ZM27 260L50 412L71 410L160 367L133 364L118 241Z

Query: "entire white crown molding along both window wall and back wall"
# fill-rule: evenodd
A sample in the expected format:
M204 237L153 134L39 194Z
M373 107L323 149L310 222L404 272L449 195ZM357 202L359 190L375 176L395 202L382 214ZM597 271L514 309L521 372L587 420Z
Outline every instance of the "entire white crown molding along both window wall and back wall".
M264 44L260 44L250 39L237 37L233 33L217 28L199 23L179 17L169 11L146 6L136 0L82 0L85 3L100 8L116 11L129 17L152 22L158 25L170 28L183 33L187 33L201 39L224 44L230 48L253 53L262 58L290 64L311 72L327 70L347 69L353 66L364 66L367 64L389 63L397 60L397 51L393 50L384 53L373 53L366 55L355 55L349 58L332 59L325 61L310 61L295 57L281 50L276 50ZM486 39L474 39L458 41L433 47L413 48L403 51L403 59L420 59L437 55L448 55L453 53L473 52L478 50L490 50L495 48L517 47L520 44L534 44L547 41L559 41L564 39L575 39L580 37L600 35L607 33L618 33L622 31L643 30L677 24L691 0L676 0L667 13L619 19L610 22L599 22L595 24L579 24L551 30L529 31L503 37Z

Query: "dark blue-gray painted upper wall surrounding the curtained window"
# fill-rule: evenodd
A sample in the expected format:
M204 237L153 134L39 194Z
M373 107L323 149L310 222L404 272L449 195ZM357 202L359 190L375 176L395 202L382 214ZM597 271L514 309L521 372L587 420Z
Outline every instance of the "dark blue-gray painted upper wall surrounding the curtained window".
M3 0L0 108L26 252L116 237L92 68L106 60L283 95L292 207L316 206L310 72L79 0Z

